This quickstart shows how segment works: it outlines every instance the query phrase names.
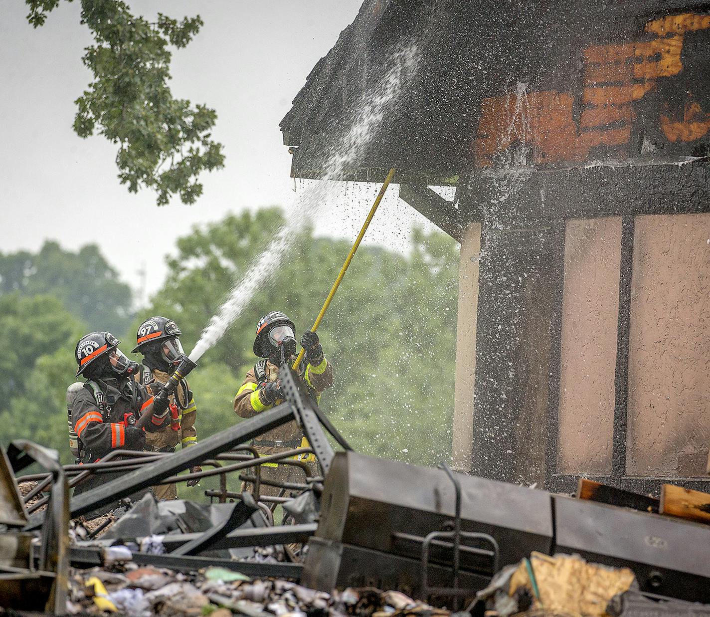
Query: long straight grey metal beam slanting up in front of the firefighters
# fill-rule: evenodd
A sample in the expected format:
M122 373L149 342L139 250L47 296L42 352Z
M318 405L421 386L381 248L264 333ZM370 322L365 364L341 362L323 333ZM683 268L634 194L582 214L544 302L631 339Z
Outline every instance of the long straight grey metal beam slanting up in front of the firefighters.
M177 474L183 469L188 469L204 459L214 457L220 452L258 437L263 432L279 427L293 418L293 408L288 403L284 403L207 437L192 447L170 454L170 457L142 466L125 476L107 482L107 484L92 488L91 491L72 498L70 505L72 518L119 501L119 499L132 495L143 488L158 484L161 480ZM43 518L43 513L33 515L26 529L38 528L42 524Z

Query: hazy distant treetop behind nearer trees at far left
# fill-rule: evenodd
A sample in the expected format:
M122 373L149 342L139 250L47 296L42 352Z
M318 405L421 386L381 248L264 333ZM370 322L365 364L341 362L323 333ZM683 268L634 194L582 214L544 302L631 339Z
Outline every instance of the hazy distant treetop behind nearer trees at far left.
M52 295L89 330L121 334L131 322L131 288L118 277L95 244L72 253L48 241L37 254L0 253L0 295Z

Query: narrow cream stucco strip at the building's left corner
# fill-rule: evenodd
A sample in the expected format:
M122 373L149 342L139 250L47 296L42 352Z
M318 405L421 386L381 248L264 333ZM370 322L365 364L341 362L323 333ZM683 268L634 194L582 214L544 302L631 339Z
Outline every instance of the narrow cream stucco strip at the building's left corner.
M470 223L461 238L459 258L459 313L456 337L456 383L452 466L471 471L474 435L474 375L476 374L476 320L479 306L481 224Z

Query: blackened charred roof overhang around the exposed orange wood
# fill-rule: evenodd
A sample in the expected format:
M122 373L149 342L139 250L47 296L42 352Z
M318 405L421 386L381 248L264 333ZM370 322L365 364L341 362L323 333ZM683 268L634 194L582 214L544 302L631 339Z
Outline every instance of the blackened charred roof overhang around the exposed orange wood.
M281 122L285 143L295 146L291 174L324 177L321 154L332 127L343 121L344 103L367 92L377 67L413 32L420 47L420 68L415 82L403 93L398 114L387 119L383 134L364 148L347 172L331 179L379 182L388 168L395 167L413 185L457 184L459 176L469 175L481 163L476 140L486 138L481 134L485 127L482 131L479 126L482 105L491 97L514 95L520 87L523 94L568 96L572 107L567 124L575 127L572 136L579 136L584 131L582 63L586 50L647 40L645 23L684 12L706 15L710 3L638 0L630 6L611 0L544 4L514 0L501 5L493 0L366 0L334 48L314 67ZM708 55L707 46L693 45L692 53L702 58ZM682 91L670 82L665 87ZM557 162L543 155L542 163L536 159L527 164L535 172L584 167L592 160L635 164L645 154L641 144L649 127L658 131L657 111L667 102L657 98L655 90L650 92L655 98L635 104L635 124L623 148L608 146L608 140L601 139L601 146L586 147L581 155ZM609 131L615 128L612 124ZM709 144L710 136L691 144L664 142L660 151L696 155ZM504 165L504 161L489 159L485 164Z

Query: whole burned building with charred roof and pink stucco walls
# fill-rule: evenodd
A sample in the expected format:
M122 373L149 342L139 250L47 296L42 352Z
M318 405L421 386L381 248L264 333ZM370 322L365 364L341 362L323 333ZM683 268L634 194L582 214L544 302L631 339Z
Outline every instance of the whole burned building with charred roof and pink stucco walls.
M333 173L403 54L415 70ZM459 469L710 486L709 71L708 2L366 0L308 76L281 125L292 175L396 168L461 243Z

